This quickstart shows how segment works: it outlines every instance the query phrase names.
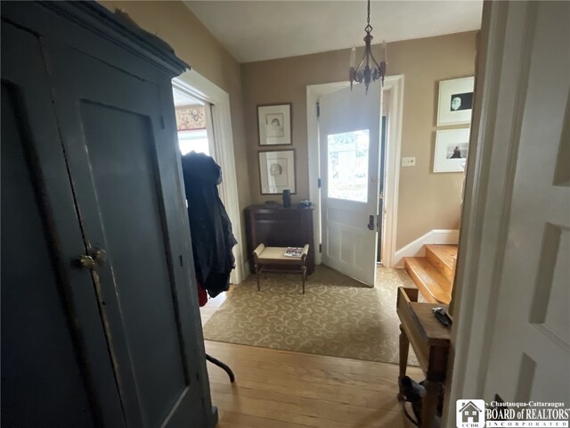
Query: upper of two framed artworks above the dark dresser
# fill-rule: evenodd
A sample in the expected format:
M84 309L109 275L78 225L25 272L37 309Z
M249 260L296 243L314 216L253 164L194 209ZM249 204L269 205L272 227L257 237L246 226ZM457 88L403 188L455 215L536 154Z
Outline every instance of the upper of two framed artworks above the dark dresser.
M291 141L291 103L257 106L259 145L285 145Z

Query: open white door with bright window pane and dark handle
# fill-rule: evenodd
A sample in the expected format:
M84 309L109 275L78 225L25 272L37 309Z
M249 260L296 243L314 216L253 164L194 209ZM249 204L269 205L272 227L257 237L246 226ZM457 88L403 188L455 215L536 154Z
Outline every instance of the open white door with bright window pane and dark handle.
M364 284L376 278L382 88L319 100L322 263Z

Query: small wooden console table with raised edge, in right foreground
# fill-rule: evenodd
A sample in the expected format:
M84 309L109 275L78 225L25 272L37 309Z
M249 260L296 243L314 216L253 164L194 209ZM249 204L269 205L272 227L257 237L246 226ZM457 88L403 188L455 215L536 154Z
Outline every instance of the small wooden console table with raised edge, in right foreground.
M440 384L445 381L451 331L434 316L433 308L448 309L447 305L419 303L418 289L398 288L396 311L400 317L400 376L406 374L410 343L426 374L426 396L422 400L421 428L431 428L436 416ZM398 399L403 397L398 394Z

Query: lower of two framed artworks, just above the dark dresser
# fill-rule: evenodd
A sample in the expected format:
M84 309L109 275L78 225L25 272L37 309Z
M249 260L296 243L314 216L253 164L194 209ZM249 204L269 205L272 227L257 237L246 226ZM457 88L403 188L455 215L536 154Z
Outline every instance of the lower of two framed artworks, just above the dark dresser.
M261 194L297 193L295 186L295 151L259 152Z

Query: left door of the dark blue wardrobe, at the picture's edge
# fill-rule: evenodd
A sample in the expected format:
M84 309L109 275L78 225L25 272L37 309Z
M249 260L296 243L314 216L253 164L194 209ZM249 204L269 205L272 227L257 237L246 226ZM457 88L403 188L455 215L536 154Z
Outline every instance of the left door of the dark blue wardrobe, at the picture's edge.
M2 60L2 426L125 426L37 38Z

